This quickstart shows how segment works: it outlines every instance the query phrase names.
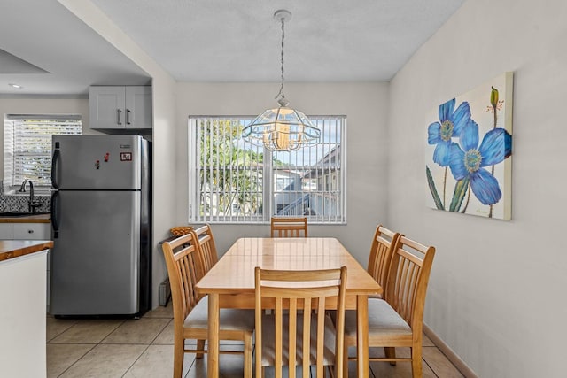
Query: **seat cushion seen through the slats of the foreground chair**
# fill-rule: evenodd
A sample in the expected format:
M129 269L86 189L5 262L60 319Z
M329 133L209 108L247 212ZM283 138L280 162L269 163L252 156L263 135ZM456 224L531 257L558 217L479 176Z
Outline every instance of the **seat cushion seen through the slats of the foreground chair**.
M323 349L323 366L335 365L335 327L329 316L325 316L325 336ZM262 315L262 366L276 364L276 325L273 314ZM289 315L283 315L283 347L282 366L289 366ZM298 314L296 333L296 365L303 363L303 315ZM309 365L316 365L317 355L317 315L311 315L311 356Z

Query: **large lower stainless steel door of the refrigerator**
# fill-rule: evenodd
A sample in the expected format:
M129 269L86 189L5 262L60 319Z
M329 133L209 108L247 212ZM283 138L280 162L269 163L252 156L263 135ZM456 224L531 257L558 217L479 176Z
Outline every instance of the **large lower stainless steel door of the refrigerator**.
M139 191L62 191L51 255L53 315L135 314Z

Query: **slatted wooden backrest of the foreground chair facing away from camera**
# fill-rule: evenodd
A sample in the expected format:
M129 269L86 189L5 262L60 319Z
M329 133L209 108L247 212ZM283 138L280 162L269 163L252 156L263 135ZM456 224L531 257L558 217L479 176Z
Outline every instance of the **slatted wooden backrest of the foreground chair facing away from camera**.
M316 365L317 376L322 376L323 355L325 353L325 316L327 299L336 301L337 334L335 337L335 368L338 375L343 372L343 349L345 328L346 267L315 271L277 271L255 269L255 306L256 306L256 372L261 376L262 361L262 303L268 298L274 301L276 377L281 376L283 364L289 365L290 376L295 376L298 356L301 356L304 376L309 376L309 366ZM282 282L292 282L282 284ZM291 289L292 288L292 289ZM316 310L317 328L311 335L311 313ZM269 318L272 319L272 318ZM284 319L287 322L287 354L284 359L283 337ZM302 333L298 334L299 327ZM301 351L297 351L300 337ZM312 356L312 351L315 355ZM315 359L315 360L314 360Z

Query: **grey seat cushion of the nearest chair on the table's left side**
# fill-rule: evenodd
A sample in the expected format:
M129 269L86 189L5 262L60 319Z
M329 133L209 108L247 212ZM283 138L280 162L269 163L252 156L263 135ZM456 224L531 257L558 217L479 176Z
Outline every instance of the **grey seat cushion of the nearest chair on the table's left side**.
M198 304L193 307L185 321L185 328L208 328L208 297L203 297ZM254 310L235 310L221 308L220 313L221 329L227 330L250 330L254 329Z

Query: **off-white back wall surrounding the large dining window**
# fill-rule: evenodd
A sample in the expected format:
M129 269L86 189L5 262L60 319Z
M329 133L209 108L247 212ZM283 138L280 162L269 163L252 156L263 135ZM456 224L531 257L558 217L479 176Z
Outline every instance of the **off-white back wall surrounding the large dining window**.
M276 105L277 83L180 83L177 93L177 224L188 221L187 120L190 115L257 115ZM306 114L345 114L347 226L310 226L309 235L336 236L363 266L378 222L386 218L384 83L286 83L290 106ZM269 226L213 225L220 254L241 236L268 236Z

